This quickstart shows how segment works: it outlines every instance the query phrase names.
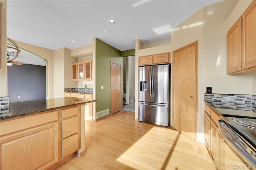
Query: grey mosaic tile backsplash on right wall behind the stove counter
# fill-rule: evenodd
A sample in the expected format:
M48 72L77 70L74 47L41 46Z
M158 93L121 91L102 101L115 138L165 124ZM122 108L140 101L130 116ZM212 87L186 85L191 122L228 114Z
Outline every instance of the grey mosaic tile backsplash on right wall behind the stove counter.
M204 93L204 100L216 108L237 109L256 112L256 95Z

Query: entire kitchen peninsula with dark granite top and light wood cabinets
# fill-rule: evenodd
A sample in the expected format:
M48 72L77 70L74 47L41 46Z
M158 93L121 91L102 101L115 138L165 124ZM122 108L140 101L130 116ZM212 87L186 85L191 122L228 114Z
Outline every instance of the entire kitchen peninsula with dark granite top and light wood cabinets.
M54 169L86 153L85 106L95 99L62 97L10 103L0 117L0 169Z

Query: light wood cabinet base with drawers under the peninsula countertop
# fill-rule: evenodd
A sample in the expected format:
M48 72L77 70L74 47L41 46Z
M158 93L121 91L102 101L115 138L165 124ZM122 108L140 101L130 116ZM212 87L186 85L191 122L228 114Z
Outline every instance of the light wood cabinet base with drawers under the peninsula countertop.
M78 106L2 121L0 127L0 170L52 168L80 149Z

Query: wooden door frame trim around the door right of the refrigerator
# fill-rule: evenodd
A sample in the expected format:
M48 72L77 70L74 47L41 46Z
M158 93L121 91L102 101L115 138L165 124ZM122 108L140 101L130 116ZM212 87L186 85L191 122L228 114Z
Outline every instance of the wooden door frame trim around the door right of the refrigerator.
M196 74L196 77L195 77L195 117L194 117L194 121L195 121L195 142L197 141L197 119L198 119L198 41L196 42L193 42L193 43L190 43L184 47L181 47L180 49L177 49L175 51L172 52L172 79L174 80L174 77L175 77L175 53L179 52L179 51L182 51L184 49L187 49L189 47L192 47L195 45L195 48L196 48L196 54L195 54L195 60L196 60L196 63L195 63L195 74ZM174 81L172 81L172 103L174 103ZM174 127L174 106L172 106L172 128L175 128Z

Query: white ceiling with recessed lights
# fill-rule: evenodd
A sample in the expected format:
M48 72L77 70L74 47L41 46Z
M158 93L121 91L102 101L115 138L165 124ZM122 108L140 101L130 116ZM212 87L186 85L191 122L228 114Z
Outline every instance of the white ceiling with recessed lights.
M134 49L136 39L170 38L173 28L220 1L7 0L7 37L52 50L81 47L98 38L124 51ZM110 19L116 24L108 24ZM156 33L157 28L165 33Z

